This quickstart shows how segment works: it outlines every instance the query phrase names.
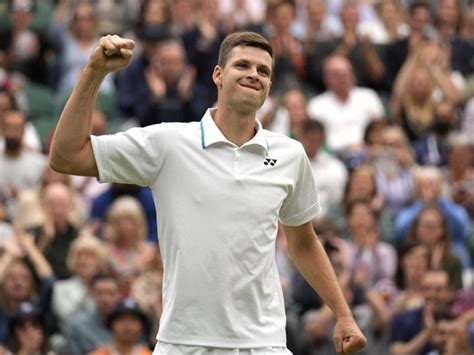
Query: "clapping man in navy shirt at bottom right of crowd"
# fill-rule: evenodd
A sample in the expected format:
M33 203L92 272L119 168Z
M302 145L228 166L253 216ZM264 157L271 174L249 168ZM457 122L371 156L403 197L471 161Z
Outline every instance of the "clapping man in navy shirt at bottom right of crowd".
M390 332L391 354L445 354L446 339L442 324L449 320L449 306L454 288L444 270L430 270L422 280L425 304L420 308L401 312L392 320Z

